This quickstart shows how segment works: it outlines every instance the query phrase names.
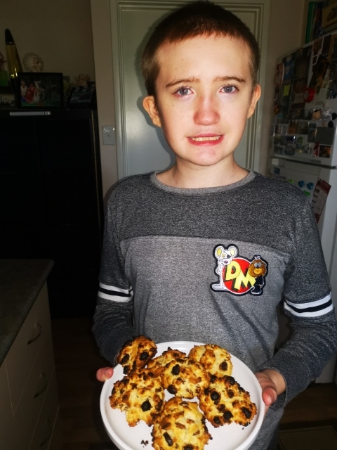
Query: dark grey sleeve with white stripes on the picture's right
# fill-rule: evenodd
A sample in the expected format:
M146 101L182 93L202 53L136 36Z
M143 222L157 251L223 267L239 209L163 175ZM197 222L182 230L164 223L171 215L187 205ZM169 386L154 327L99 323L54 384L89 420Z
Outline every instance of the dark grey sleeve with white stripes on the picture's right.
M285 403L317 378L337 352L337 323L329 275L308 200L298 207L293 241L283 292L291 338L259 368L259 371L272 368L283 375Z

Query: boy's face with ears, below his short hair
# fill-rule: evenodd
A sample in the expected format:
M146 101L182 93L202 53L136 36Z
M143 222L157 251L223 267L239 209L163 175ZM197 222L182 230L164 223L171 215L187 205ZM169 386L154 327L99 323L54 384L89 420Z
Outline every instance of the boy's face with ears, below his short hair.
M157 53L156 98L143 105L161 127L177 163L211 166L232 160L260 98L251 53L239 39L198 36Z

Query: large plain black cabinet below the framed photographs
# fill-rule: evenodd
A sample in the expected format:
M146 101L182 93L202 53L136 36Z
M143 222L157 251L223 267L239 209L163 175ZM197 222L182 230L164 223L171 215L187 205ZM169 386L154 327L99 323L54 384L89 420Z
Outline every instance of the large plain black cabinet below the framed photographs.
M103 229L94 110L0 110L0 257L52 259L51 317L91 316Z

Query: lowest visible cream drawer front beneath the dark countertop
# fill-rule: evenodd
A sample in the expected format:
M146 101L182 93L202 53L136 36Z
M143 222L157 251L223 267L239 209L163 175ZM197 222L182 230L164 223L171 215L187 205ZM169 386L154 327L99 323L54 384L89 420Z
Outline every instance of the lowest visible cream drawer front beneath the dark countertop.
M58 390L56 375L53 371L48 392L44 400L44 406L35 429L29 450L47 450L54 433L55 420L58 414ZM59 430L57 430L59 432Z

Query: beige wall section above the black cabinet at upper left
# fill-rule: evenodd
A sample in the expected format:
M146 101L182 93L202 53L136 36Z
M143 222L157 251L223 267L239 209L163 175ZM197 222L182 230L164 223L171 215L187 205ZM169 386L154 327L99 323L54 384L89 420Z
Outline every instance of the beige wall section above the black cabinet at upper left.
M95 79L90 0L2 1L0 51L5 58L6 28L21 60L25 53L37 53L44 72L62 72L70 82L81 73Z

